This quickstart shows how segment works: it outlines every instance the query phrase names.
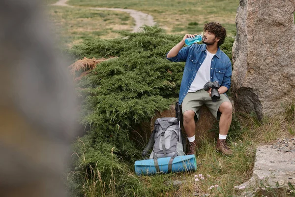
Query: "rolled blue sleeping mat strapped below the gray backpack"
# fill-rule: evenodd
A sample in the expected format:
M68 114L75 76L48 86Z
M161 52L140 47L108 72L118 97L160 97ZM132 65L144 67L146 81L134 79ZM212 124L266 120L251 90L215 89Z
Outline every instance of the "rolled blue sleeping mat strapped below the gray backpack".
M196 157L195 155L184 155L177 156L174 158L171 170L168 169L168 164L171 157L158 158L156 161L151 160L139 160L135 162L135 173L136 175L153 175L158 172L169 173L171 172L185 172L185 171L195 171L197 169ZM155 165L156 163L156 165ZM157 165L158 164L158 165Z

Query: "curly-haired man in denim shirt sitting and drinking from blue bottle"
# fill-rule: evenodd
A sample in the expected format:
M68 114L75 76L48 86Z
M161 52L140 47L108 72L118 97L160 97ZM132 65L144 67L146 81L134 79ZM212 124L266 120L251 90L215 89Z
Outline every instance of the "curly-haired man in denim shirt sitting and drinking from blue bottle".
M219 48L225 40L226 30L219 23L207 23L204 25L203 44L183 47L184 40L195 35L185 34L183 39L167 53L167 59L171 62L185 62L179 104L182 105L183 126L189 141L187 154L192 155L196 152L194 116L196 114L199 118L199 109L205 104L219 120L216 149L225 155L231 155L232 150L225 140L232 122L233 106L224 93L231 87L232 64L229 57ZM204 85L208 81L218 81L220 85L218 89L220 99L216 102L211 99L211 89L207 92L204 90Z

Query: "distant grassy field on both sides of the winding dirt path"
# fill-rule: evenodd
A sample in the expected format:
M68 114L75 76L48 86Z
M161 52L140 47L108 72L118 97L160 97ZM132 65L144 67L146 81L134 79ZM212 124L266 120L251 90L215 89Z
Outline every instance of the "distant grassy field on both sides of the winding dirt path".
M45 0L47 4L57 0ZM61 37L66 47L78 44L86 38L114 38L118 31L131 31L134 19L125 12L90 10L87 7L128 8L143 11L153 16L156 24L165 33L183 35L201 33L203 25L209 21L220 22L228 32L236 30L235 17L238 0L69 0L68 4L77 8L48 6L50 19L56 27L54 31Z

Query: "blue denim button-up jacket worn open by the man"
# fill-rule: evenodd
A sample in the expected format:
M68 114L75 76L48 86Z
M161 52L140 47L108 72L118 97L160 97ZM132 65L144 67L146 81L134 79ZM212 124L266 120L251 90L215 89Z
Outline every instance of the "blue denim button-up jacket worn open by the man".
M194 81L196 73L204 62L206 56L206 44L192 44L190 46L183 47L178 52L177 56L167 58L171 62L185 62L180 85L179 104L182 103L184 97L186 96L189 87ZM231 87L231 76L231 60L218 47L218 50L211 61L210 81L218 81L220 86L225 86L229 90Z

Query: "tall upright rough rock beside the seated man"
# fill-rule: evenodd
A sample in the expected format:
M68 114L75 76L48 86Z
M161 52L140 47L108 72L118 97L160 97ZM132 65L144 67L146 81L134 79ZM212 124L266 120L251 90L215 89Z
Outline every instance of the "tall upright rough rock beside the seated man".
M279 115L295 98L295 0L240 0L233 46L236 111Z

